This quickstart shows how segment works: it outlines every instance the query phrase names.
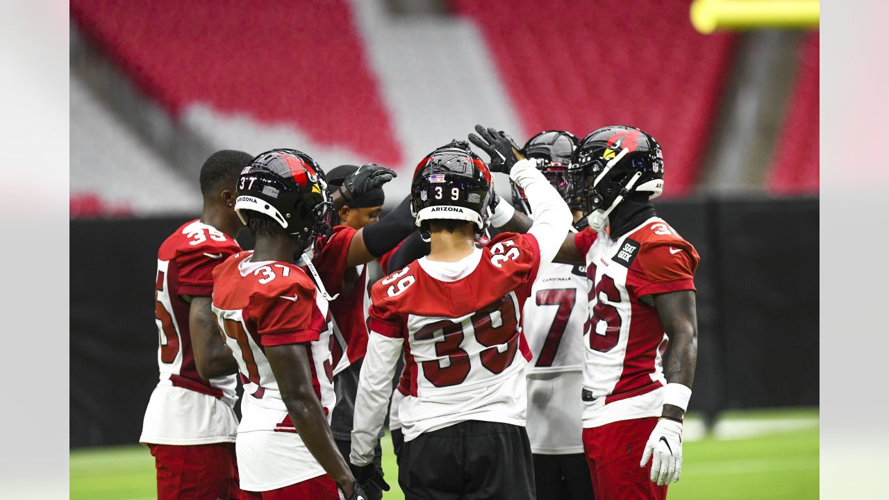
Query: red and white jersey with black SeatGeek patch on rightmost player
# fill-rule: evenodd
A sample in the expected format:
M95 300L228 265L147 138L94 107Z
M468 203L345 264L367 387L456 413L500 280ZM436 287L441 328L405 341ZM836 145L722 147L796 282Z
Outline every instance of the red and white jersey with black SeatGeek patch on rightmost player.
M593 284L583 386L594 400L584 427L661 415L657 390L666 384L661 361L669 339L653 295L694 290L698 253L658 217L621 238L587 229L574 241Z

